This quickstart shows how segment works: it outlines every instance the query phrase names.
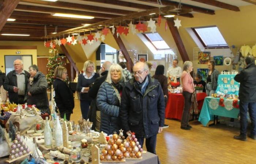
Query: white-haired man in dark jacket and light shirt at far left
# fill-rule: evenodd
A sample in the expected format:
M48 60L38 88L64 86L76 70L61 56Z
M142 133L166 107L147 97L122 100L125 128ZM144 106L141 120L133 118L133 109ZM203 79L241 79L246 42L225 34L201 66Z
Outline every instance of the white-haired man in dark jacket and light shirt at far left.
M3 86L8 91L11 103L24 104L30 74L23 70L22 60L16 59L13 65L14 70L7 74Z

